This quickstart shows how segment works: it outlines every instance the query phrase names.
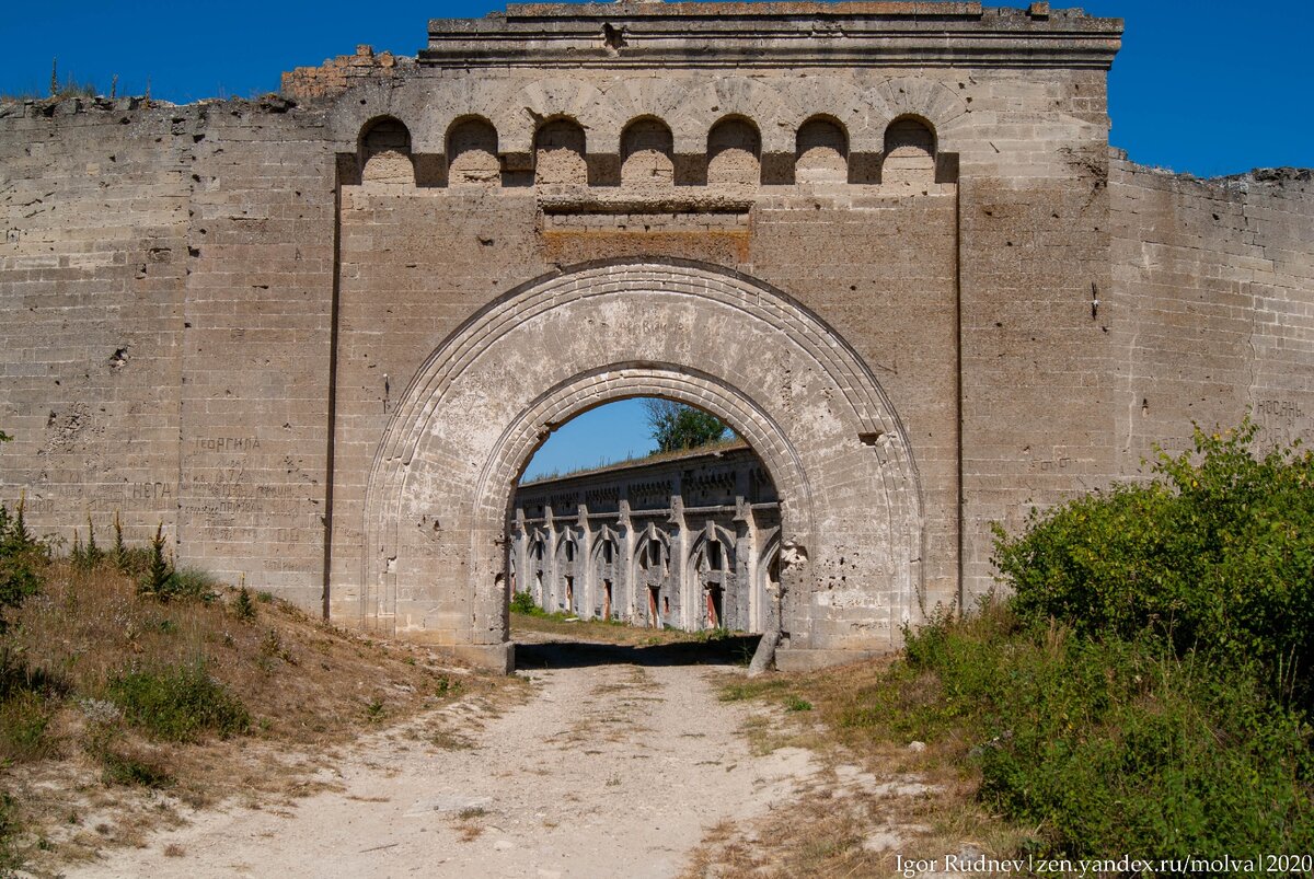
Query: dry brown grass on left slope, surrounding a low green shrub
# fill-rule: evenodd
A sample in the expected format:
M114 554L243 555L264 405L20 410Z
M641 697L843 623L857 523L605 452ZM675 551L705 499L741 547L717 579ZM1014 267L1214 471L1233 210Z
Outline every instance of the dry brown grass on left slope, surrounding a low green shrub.
M42 752L0 770L18 803L17 849L29 870L55 875L106 844L141 845L145 832L176 825L188 808L223 799L277 808L335 787L334 774L319 771L331 766L335 744L457 695L495 704L523 688L267 597L244 620L234 597L221 590L209 603L159 603L117 572L50 566L4 636L11 657L62 690L46 702ZM113 682L125 673L197 664L246 707L247 734L162 741L113 703Z

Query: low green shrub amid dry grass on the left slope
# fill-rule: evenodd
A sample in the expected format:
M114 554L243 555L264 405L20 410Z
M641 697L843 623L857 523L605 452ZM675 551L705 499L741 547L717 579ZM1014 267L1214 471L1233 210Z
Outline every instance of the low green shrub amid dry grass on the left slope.
M198 741L208 733L227 738L251 727L240 699L212 678L202 662L127 671L110 682L108 695L129 723L168 741Z

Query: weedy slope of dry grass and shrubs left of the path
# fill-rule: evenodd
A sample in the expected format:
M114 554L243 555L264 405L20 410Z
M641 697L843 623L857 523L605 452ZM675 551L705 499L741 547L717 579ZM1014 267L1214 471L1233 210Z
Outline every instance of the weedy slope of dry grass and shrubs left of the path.
M0 507L0 874L134 842L177 807L309 794L336 742L499 681L177 570L163 530L63 558Z

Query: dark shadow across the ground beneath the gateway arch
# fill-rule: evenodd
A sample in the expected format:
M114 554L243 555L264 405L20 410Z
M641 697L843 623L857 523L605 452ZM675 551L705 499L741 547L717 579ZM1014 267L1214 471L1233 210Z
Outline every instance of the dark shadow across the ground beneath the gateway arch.
M581 669L595 665L748 665L761 635L738 635L715 641L673 644L602 644L553 637L545 641L515 639L516 670Z

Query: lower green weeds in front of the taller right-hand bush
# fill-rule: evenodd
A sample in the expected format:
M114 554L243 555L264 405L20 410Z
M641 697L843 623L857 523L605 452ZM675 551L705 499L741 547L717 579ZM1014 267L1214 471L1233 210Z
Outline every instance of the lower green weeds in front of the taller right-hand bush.
M936 686L900 732L934 740L954 729L975 742L982 799L1034 828L1041 851L1242 857L1314 846L1314 733L1254 669L993 608L911 635L891 681L907 690L922 675ZM845 721L882 723L875 708Z

